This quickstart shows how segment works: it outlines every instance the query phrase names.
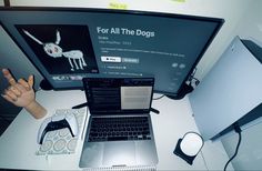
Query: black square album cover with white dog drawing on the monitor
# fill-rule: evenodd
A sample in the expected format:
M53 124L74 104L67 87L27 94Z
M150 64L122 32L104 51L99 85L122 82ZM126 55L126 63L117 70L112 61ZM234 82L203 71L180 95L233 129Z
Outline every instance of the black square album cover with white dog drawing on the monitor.
M98 72L88 26L16 27L50 74Z

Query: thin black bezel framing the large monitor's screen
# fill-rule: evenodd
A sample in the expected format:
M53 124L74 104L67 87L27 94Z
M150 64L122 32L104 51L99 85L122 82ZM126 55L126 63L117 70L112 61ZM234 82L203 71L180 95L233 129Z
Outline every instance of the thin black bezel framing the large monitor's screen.
M153 12L153 11L138 11L138 10L115 10L115 9L98 9L98 8L68 8L68 7L0 7L0 11L61 11L61 12L100 12L100 13L120 13L120 14L134 14L134 16L151 16L151 17L164 17L164 18L179 18L179 19L189 19L189 20L203 20L209 22L215 22L216 28L213 30L211 37L206 41L205 46L203 47L202 51L200 52L199 57L195 58L196 60L192 64L191 69L189 70L187 77L182 81L180 88L178 89L177 93L164 91L164 90L154 90L157 93L163 93L167 95L177 97L181 93L181 90L183 89L183 86L188 81L189 77L192 74L193 70L195 69L196 64L205 53L206 49L218 34L219 30L221 29L222 24L224 23L224 20L221 18L213 18L213 17L200 17L200 16L189 16L189 14L178 14L178 13L167 13L167 12ZM20 50L27 56L27 58L30 60L30 62L37 68L37 70L41 73L43 79L49 82L49 79L47 78L41 69L32 61L30 58L30 54L26 52L26 50L22 48L22 46L17 41L17 39L12 36L12 33L9 31L8 28L4 27L2 21L0 21L0 24L4 29L4 31L10 36L10 38L16 42L16 44L20 48ZM14 27L16 23L13 23ZM95 74L95 73L94 73ZM99 74L99 73L98 73ZM83 90L82 87L70 87L70 88L56 88L51 84L53 90Z

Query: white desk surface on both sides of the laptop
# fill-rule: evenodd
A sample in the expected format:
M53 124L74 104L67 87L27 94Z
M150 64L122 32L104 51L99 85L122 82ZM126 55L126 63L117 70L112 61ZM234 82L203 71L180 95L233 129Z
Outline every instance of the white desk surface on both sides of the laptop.
M155 98L160 94L154 94ZM85 102L83 91L43 91L37 92L37 100L48 110L50 117L56 109L69 109ZM229 160L220 141L206 141L202 151L190 165L173 154L175 144L188 131L198 131L192 117L188 97L171 100L167 97L154 100L152 108L160 114L151 113L157 150L158 170L222 170ZM33 119L24 109L17 115L0 137L0 168L24 170L81 170L79 159L83 140L73 154L36 155L39 148L37 135L41 122ZM229 165L232 169L232 165Z

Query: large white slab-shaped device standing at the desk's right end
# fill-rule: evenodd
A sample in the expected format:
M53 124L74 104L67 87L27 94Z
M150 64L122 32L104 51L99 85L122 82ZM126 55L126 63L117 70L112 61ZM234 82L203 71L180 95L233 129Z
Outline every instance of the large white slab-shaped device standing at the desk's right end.
M262 49L235 37L189 95L204 140L243 118L262 103Z

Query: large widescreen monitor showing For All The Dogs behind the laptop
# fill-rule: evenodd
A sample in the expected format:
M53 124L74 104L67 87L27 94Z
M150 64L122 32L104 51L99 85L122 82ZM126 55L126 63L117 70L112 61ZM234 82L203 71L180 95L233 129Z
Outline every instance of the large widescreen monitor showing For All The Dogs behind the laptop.
M87 74L153 76L177 95L223 19L159 12L1 8L0 22L54 90L82 89Z

